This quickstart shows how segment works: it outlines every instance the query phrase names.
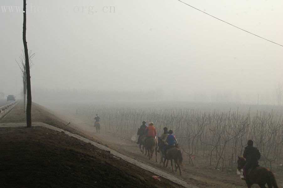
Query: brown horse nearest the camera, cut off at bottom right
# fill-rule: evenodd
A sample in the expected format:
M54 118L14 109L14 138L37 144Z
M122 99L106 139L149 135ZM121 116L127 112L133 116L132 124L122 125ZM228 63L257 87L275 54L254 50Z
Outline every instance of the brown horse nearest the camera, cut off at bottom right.
M242 170L246 163L245 158L238 156L238 170ZM251 188L253 184L258 184L261 188L266 188L265 184L268 188L278 188L274 174L268 168L261 166L248 170L246 183L248 188Z

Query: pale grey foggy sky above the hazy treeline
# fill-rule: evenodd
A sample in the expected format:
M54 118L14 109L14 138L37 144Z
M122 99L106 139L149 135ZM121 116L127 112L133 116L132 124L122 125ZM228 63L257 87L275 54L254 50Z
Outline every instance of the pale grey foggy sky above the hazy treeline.
M282 1L184 2L283 44ZM199 91L273 95L283 81L283 47L176 0L27 3L32 88L163 90L172 99ZM22 12L0 9L0 92L6 95L22 87L15 62L23 49L22 22Z

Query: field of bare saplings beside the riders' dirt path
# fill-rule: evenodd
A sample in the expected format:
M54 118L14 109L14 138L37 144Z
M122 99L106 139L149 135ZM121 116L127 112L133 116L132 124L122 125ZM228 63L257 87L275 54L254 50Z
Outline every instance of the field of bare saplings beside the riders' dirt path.
M182 151L194 162L219 170L234 171L238 155L248 139L254 140L262 158L260 165L282 168L283 121L274 112L199 112L189 109L142 109L109 107L67 107L79 118L93 121L99 113L103 131L132 135L143 120L154 122L158 135L163 127L174 131Z

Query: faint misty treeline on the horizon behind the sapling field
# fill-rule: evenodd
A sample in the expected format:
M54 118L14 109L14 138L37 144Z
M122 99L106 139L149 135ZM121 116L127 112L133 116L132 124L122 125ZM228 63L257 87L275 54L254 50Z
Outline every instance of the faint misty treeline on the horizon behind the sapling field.
M141 102L185 101L195 103L283 105L283 84L278 82L274 91L264 94L237 94L223 92L175 92L173 95L162 89L141 91L99 91L92 89L43 89L34 88L35 101L47 102Z

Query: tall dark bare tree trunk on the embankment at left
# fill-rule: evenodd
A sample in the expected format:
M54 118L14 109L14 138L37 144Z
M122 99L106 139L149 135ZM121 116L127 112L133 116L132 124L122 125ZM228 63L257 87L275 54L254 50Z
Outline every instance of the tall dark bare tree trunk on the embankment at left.
M24 42L24 55L25 55L25 68L26 68L26 79L27 79L27 127L31 127L31 86L30 86L30 73L29 73L29 52L28 44L26 40L26 0L24 0L24 24L23 24L23 42Z

